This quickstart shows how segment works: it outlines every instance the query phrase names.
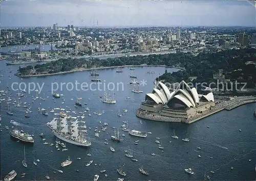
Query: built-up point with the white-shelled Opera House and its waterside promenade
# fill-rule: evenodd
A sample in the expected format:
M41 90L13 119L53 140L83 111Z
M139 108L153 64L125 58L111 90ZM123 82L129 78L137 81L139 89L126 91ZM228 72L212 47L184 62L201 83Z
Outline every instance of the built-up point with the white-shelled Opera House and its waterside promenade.
M256 102L256 96L214 96L212 92L201 95L184 81L179 83L177 90L170 92L163 83L155 82L155 88L152 93L146 94L136 116L153 121L190 124L222 110L229 111L252 102Z

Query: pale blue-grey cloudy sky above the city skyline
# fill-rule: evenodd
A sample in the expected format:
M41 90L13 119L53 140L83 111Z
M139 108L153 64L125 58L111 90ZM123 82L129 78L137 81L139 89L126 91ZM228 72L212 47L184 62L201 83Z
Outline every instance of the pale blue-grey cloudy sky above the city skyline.
M76 1L1 2L2 27L256 27L256 9L246 1Z

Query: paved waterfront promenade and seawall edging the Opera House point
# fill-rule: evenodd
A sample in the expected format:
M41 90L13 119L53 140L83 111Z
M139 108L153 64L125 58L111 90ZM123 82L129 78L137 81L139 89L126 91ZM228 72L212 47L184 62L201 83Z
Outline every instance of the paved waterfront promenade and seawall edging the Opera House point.
M246 104L252 104L256 102L256 97L248 97L248 96L244 96L244 97L240 97L241 100L238 100L237 102L231 103L230 105L228 105L228 103L230 103L231 100L228 101L224 101L221 102L221 104L225 104L225 106L221 106L221 107L213 107L212 111L210 111L209 113L200 115L199 117L192 117L190 119L181 119L181 118L175 118L175 117L162 117L161 119L154 119L151 116L145 116L145 115L140 115L139 114L139 110L140 108L136 111L136 116L142 119L146 119L146 120L151 120L151 121L160 121L160 122L181 122L181 123L185 123L185 124L191 124L194 123L196 121L199 121L203 118L206 118L208 116L214 115L218 112L221 112L223 110L226 111L230 111L234 108L238 108L240 106L246 105ZM214 109L215 108L215 109ZM153 113L156 114L156 113Z

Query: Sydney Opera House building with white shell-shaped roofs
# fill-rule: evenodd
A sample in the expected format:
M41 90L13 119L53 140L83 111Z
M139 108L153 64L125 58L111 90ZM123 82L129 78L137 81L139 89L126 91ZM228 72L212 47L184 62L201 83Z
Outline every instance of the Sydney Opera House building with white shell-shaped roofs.
M156 82L136 115L156 121L186 122L211 107L215 107L212 92L199 95L196 88L190 88L184 81L179 83L178 89L170 92L162 82Z

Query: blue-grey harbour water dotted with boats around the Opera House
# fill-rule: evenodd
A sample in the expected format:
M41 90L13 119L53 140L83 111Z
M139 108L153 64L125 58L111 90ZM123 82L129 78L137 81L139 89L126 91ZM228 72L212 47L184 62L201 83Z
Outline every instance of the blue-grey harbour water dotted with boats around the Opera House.
M63 86L62 91L56 93L65 95L65 104L61 104L63 97L53 99L51 93L51 84L53 82L68 83L75 85L75 81L82 83L91 83L91 76L88 71L74 72L69 74L59 74L54 76L28 77L20 79L14 76L13 73L18 69L18 65L6 66L5 61L0 62L0 67L5 76L1 78L1 89L7 90L7 86L11 88L13 82L21 83L44 83L44 87L38 97L42 97L45 93L46 100L36 99L32 103L32 95L24 93L25 96L19 101L28 102L32 107L30 118L25 118L25 108L11 107L14 115L7 115L7 104L5 101L1 103L2 112L2 132L1 132L1 176L2 178L11 170L16 170L16 180L45 180L45 176L49 175L54 180L92 180L95 174L99 174L99 180L117 180L118 177L124 177L124 180L203 180L204 173L209 175L212 180L254 180L255 179L255 151L256 151L256 118L253 116L255 104L241 106L231 111L222 111L210 117L204 118L201 121L193 124L181 123L165 123L142 120L136 117L136 109L140 107L141 100L144 100L145 93L152 92L153 81L159 75L164 73L165 69L168 72L177 71L174 68L164 67L136 67L133 75L137 75L138 80L145 80L146 85L140 86L139 89L143 93L133 93L133 86L129 84L131 81L129 75L132 70L123 68L122 73L116 73L117 69L103 69L99 71L98 79L105 80L106 84L113 82L123 83L123 90L119 86L119 91L114 90L114 98L116 104L104 104L99 96L103 95L103 91L69 91L66 86ZM13 70L13 72L10 72ZM148 74L147 71L155 71L155 74ZM9 77L11 75L11 77ZM92 87L93 89L95 87ZM102 87L101 87L102 88ZM70 87L69 87L70 89ZM17 91L12 92L11 98ZM8 98L8 95L4 98ZM78 112L81 108L74 108L77 97L82 97L83 102L87 102L91 110L92 116L84 118L87 126L91 127L88 130L90 147L78 147L67 143L68 151L57 151L55 146L44 145L44 141L39 137L40 133L44 133L48 143L55 143L56 138L46 126L46 123L53 118L53 113L50 109L64 108ZM130 97L130 99L126 99ZM3 98L3 97L2 97ZM90 99L89 99L90 98ZM73 99L73 100L71 100ZM13 102L13 101L12 101ZM41 104L41 105L40 105ZM68 108L67 108L68 106ZM38 113L37 108L48 109L49 116ZM118 111L127 109L123 116L117 116ZM104 111L101 116L96 116L93 112ZM55 110L55 113L58 113ZM73 113L72 115L75 116ZM26 158L28 168L22 166L24 158L23 143L16 142L10 138L9 131L11 130L10 120L16 121L15 125L23 128L24 131L30 134L34 133L35 143L33 145L25 144ZM99 123L101 121L101 123ZM133 137L127 132L121 131L122 121L127 121L130 129L139 131L152 132L146 138ZM108 128L105 132L99 133L100 137L95 137L95 126L100 127L104 122L108 122ZM9 126L6 130L4 126ZM113 126L119 128L120 137L125 135L120 143L112 142L110 137L114 134ZM206 127L206 126L209 126ZM172 139L173 130L178 135L179 139ZM241 129L241 132L239 131ZM107 134L108 133L108 134ZM160 138L161 144L164 147L164 152L158 148L155 143L156 137ZM189 138L189 142L182 141L183 138ZM108 145L105 145L105 139L109 139ZM138 145L134 144L135 140L139 140ZM172 141L169 143L169 141ZM115 152L110 150L110 146L115 148ZM201 147L201 149L197 149ZM228 149L225 149L227 147ZM138 162L133 162L131 159L124 156L125 149L131 149L134 158ZM51 152L53 150L53 152ZM156 156L151 153L155 152ZM90 153L91 156L87 156ZM201 158L198 158L200 154ZM70 156L73 163L67 167L61 168L60 164ZM81 160L76 158L80 157ZM211 159L211 158L212 159ZM33 161L39 159L37 165L33 165ZM251 161L249 161L251 159ZM93 160L93 164L86 167L85 165ZM94 163L101 164L95 166ZM126 176L118 174L119 166L126 171ZM144 170L150 173L149 176L142 175L139 168L143 166ZM233 167L231 170L230 167ZM188 175L184 169L192 168L194 175ZM53 173L54 169L61 169L63 173ZM80 172L76 172L79 169ZM100 170L105 169L104 177ZM210 171L215 171L211 174ZM26 176L21 178L20 174L25 172Z

